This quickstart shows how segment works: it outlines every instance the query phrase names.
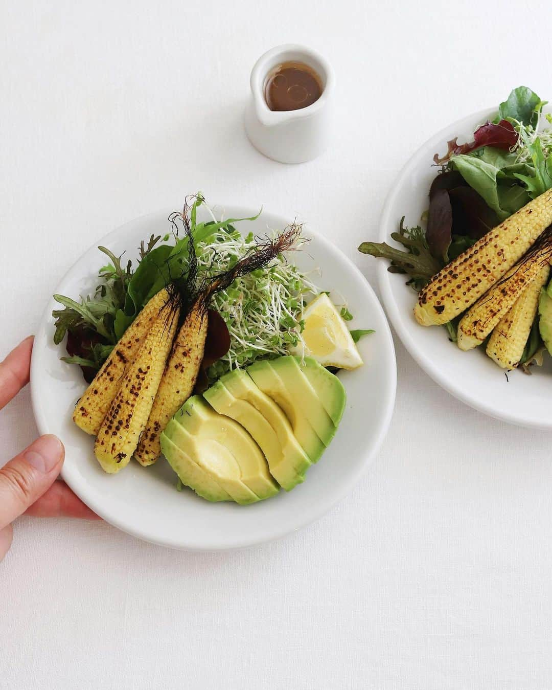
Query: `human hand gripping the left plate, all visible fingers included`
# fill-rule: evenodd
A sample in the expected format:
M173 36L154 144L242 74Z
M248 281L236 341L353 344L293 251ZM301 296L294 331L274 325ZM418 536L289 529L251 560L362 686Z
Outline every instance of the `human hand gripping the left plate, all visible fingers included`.
M0 362L0 410L29 382L33 337ZM37 438L0 469L0 560L12 544L16 517L85 517L98 519L63 482L56 482L65 449L50 434Z

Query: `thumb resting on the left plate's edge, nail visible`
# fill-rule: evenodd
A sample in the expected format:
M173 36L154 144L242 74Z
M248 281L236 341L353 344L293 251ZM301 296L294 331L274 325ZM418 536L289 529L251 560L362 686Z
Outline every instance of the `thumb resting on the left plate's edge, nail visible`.
M56 436L41 436L0 469L0 529L13 522L49 489L65 451Z

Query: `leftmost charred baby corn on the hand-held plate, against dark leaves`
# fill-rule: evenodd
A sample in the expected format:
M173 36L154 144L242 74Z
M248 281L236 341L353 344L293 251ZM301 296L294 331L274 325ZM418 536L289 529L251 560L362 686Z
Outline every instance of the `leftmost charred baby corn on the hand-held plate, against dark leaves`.
M94 434L94 436L98 434L126 368L136 357L143 339L159 316L159 310L167 299L168 293L165 289L150 299L150 302L127 328L76 404L73 422L86 433Z

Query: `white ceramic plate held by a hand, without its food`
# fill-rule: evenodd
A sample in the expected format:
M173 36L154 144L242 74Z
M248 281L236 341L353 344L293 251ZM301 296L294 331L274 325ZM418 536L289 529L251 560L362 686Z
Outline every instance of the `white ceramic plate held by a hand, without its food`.
M174 210L174 209L172 209ZM252 208L221 208L225 217L249 217ZM102 244L116 255L136 258L141 239L170 230L165 213L133 220L94 243L65 275L56 292L77 297L97 284ZM254 222L238 224L247 233L283 228L289 220L263 212ZM85 388L79 368L59 360L63 347L52 342L56 302L50 299L37 333L32 356L31 391L41 433L57 434L65 444L63 479L81 499L116 527L136 537L178 549L232 549L273 540L323 515L356 482L378 450L389 426L396 388L391 333L373 290L349 259L314 233L297 253L303 268L319 266L320 286L347 296L354 328L374 328L360 341L365 366L340 375L347 389L347 407L334 442L303 484L294 491L252 506L211 504L192 491L175 489L176 475L161 459L144 468L136 462L117 475L107 475L93 455L93 439L71 421L74 403Z

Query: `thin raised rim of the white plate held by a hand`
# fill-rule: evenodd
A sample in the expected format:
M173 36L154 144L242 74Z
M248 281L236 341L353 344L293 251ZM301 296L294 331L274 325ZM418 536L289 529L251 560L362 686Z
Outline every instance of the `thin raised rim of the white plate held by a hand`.
M178 207L176 207L178 208ZM211 208L222 208L222 209L232 209L232 213L235 213L236 211L243 211L245 212L246 215L243 215L242 213L239 214L239 217L246 217L247 215L251 215L250 212L252 211L252 207L245 206L243 204L223 204L221 202L218 202ZM266 213L267 215L270 215L272 217L278 217L282 219L282 221L285 221L285 223L289 224L292 223L293 220L287 217L283 213L279 213L278 211L272 211L269 208L262 207L261 209L262 213ZM61 286L72 274L72 271L74 270L74 266L89 252L92 250L95 250L99 244L109 244L113 239L116 239L116 237L121 233L121 230L125 228L128 225L132 225L134 223L138 223L139 221L144 221L148 217L151 217L152 219L159 219L159 217L167 217L170 213L174 212L174 208L171 210L167 210L166 208L159 208L158 210L154 210L150 213L145 213L140 216L136 216L128 221L125 221L121 225L117 226L113 230L110 230L109 233L103 235L103 237L99 237L96 239L90 246L85 248L82 253L79 254L79 256L75 259L75 261L71 264L71 266L68 268L67 271L65 271L65 274L59 281L57 282L55 290L59 289L59 286ZM256 211L255 211L256 213ZM253 214L254 215L254 214ZM369 284L368 280L364 275L362 275L362 272L358 266L354 264L354 262L347 257L347 255L341 250L338 246L336 246L331 240L327 239L324 235L319 233L316 230L313 230L311 227L307 228L307 235L311 235L313 239L315 239L316 242L319 242L320 244L325 245L325 248L329 250L331 253L337 253L340 255L342 259L345 260L347 263L347 266L349 269L357 275L359 279L362 280L362 282L365 284L365 288L368 290L368 292L371 294L371 297L373 298L374 305L376 308L376 311L380 311L380 316L382 320L382 324L385 324L385 333L382 334L384 335L385 339L387 340L387 346L389 348L389 355L390 355L390 363L391 366L389 367L389 386L388 386L388 391L387 391L387 400L385 401L385 410L384 414L382 417L382 423L380 424L380 427L378 429L378 433L376 435L376 438L374 440L374 443L371 446L371 450L367 453L365 453L362 456L362 462L358 464L358 467L354 471L351 471L349 473L347 480L343 482L343 486L340 488L340 490L336 491L335 495L331 497L331 500L328 500L327 502L323 502L318 506L318 509L315 509L309 513L305 518L300 520L296 526L292 527L289 529L288 527L285 527L284 529L274 529L269 535L267 535L265 538L254 538L254 539L248 539L247 535L245 535L245 538L241 540L234 540L232 544L208 544L206 546L198 546L197 544L186 544L185 539L181 540L180 543L174 542L174 540L163 540L162 538L152 538L151 536L148 537L145 535L142 529L139 527L135 527L134 525L129 526L126 524L123 520L120 520L118 517L118 514L110 511L109 509L105 509L104 506L101 504L99 505L96 500L92 497L92 500L90 497L87 497L85 495L81 494L81 491L79 490L79 486L75 486L74 483L72 482L72 476L71 476L71 471L69 466L65 466L65 463L63 464L63 468L61 469L61 478L65 481L66 484L74 491L74 493L79 496L79 498L94 511L97 515L99 515L105 522L108 522L109 524L112 524L112 526L116 527L117 529L120 529L121 531L132 535L134 538L138 538L140 540L143 540L145 542L149 542L151 544L156 544L159 546L165 546L170 549L178 549L178 550L183 550L183 551L198 551L198 552L214 552L214 551L232 551L236 549L244 549L252 546L256 546L258 544L264 544L268 542L272 542L278 539L281 539L288 535L289 533L293 533L298 531L299 529L303 529L303 527L311 524L312 522L315 522L316 520L320 519L323 515L328 513L340 500L347 495L351 491L351 489L354 487L354 485L358 482L358 479L362 475L364 471L369 467L371 464L372 460L378 455L382 443L385 440L385 437L387 435L387 432L389 431L389 426L391 424L391 419L393 417L393 411L395 408L395 402L396 402L396 383L397 383L397 364L396 364L396 351L395 351L395 346L393 342L393 335L391 334L391 328L389 327L389 323L387 322L387 316L385 315L385 311L380 304L380 301L376 295L376 292L374 291L374 288ZM48 325L50 324L50 317L51 317L51 312L52 312L52 297L48 299L48 302L45 304L45 308L43 310L43 313L41 315L41 319L39 322L39 326L37 327L37 335L46 333ZM55 303L54 303L55 304ZM35 353L33 351L32 354L32 359L31 359L31 366L30 366L30 393L31 393L31 404L32 404L32 411L34 414L34 420L37 424L37 427L39 429L39 433L44 434L44 433L49 433L48 432L48 422L43 417L43 414L41 412L41 406L39 405L38 398L39 398L39 375L37 375L37 368L39 366L39 355L38 353ZM120 514L120 513L119 513Z

